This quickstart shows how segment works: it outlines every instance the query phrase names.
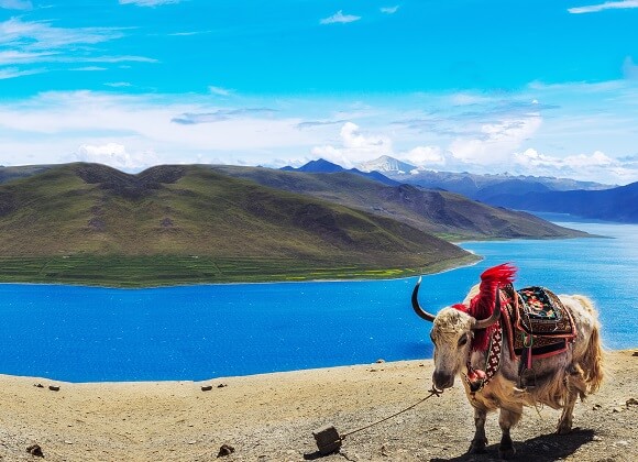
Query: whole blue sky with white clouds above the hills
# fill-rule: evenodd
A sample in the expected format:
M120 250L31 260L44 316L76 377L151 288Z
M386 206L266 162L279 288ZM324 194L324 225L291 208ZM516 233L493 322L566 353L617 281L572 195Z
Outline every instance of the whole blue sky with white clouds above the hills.
M0 0L0 164L638 180L638 0Z

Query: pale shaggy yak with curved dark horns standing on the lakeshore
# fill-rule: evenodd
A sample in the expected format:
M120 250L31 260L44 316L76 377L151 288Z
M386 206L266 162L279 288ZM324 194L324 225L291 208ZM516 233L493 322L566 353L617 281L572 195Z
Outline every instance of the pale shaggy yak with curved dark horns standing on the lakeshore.
M451 387L457 375L463 378L476 427L469 452L485 451L487 413L501 409L502 459L516 453L509 430L520 420L524 406L562 409L557 431L569 433L576 399L583 400L596 392L603 381L601 327L592 301L582 295L550 293L554 302L562 306L562 316L572 322L572 332L563 336L558 351L537 353L531 341L540 343L540 336L525 337L526 332L518 329L520 319L518 327L514 322L520 315L506 309L524 304L513 288L516 271L509 263L486 270L462 304L446 307L436 316L419 305L420 278L411 300L416 314L433 323L430 332L435 346L433 389L442 392ZM517 336L524 339L522 351L514 348L513 339ZM534 380L526 384L521 378L524 375L529 378L530 372Z

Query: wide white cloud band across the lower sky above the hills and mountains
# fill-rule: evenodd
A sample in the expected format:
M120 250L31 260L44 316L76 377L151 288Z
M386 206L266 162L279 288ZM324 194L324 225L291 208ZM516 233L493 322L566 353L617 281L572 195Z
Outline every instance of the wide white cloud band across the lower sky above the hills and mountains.
M45 92L0 101L0 164L70 162L81 154L129 169L146 167L152 158L158 164L283 166L324 157L350 167L391 155L438 170L627 184L638 180L637 100L629 103L626 96L635 88L625 80L618 91L601 90L610 108L620 108L606 114L600 113L598 92L590 95L591 107L563 109L557 98L572 91L564 86L526 90L506 101L501 96L486 101L458 98L465 106L450 105L453 95L371 103L234 94ZM575 92L582 105L587 94ZM541 102L529 102L535 99ZM548 116L535 111L546 101L561 109ZM393 123L399 118L422 119L429 125L415 130Z

